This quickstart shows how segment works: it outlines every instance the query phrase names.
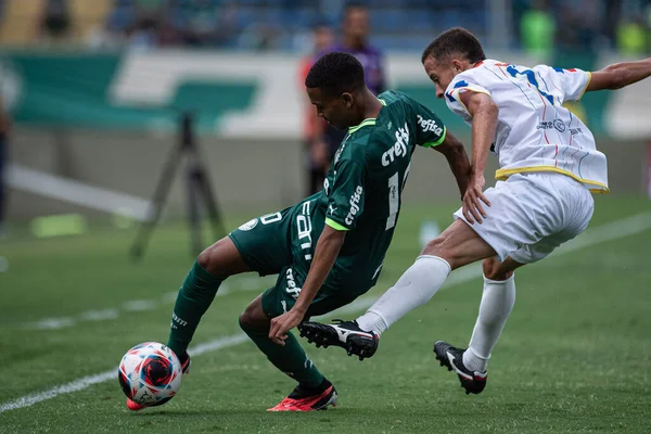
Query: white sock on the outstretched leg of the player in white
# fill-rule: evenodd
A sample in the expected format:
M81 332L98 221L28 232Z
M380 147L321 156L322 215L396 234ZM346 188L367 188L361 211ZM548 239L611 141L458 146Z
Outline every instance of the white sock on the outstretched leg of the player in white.
M365 315L357 318L357 324L361 330L382 334L398 319L427 303L449 273L450 265L445 259L438 256L419 256L396 284Z

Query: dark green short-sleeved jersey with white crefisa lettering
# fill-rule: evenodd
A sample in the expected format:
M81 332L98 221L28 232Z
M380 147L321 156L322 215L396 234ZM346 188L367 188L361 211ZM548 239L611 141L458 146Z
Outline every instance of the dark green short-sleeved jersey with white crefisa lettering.
M401 192L417 145L436 146L446 128L429 108L396 91L381 93L383 107L348 133L318 197L312 226L346 230L328 288L371 288L380 273L398 221ZM314 197L314 196L312 196Z

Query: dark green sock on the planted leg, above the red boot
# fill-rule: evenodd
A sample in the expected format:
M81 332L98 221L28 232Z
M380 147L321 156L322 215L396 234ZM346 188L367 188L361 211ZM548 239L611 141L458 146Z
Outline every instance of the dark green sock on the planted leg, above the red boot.
M317 387L322 383L323 374L307 358L305 350L291 332L288 332L285 345L280 346L271 342L268 330L248 328L242 322L240 322L240 327L276 368L308 387Z

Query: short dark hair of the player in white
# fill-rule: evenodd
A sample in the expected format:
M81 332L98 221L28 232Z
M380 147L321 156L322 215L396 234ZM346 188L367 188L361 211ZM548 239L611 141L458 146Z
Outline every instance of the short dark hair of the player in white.
M452 27L438 35L423 51L421 62L425 63L429 56L437 60L449 59L454 54L461 54L470 63L486 60L484 49L478 39L462 27Z

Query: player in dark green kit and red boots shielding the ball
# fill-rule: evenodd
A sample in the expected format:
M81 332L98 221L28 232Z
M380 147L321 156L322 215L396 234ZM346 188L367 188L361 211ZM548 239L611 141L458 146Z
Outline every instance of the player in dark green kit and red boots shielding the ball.
M290 330L353 302L375 284L417 144L446 156L460 192L465 192L470 173L462 144L438 117L404 93L373 95L353 55L323 55L305 86L319 116L348 129L323 190L242 225L201 253L179 291L167 343L187 372L188 345L221 282L246 271L278 275L276 285L240 316L242 330L258 348L298 382L269 411L310 411L335 404L332 383ZM143 408L130 400L127 406Z

